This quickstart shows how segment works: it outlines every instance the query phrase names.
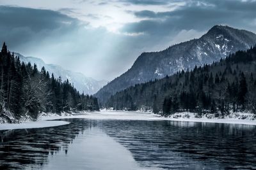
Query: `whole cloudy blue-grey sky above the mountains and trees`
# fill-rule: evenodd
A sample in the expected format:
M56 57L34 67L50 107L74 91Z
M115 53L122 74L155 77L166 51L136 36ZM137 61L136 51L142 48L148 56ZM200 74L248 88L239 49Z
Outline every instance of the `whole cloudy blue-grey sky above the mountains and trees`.
M214 25L256 32L255 0L0 0L0 43L25 56L113 80L142 52Z

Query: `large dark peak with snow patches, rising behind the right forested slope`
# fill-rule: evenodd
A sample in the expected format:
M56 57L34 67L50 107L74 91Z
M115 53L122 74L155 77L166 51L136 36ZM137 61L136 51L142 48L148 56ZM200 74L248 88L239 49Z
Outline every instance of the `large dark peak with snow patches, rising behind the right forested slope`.
M111 95L136 83L163 78L182 69L211 64L229 53L246 50L256 43L253 32L215 25L201 38L170 46L161 52L144 52L131 69L95 94L104 104Z

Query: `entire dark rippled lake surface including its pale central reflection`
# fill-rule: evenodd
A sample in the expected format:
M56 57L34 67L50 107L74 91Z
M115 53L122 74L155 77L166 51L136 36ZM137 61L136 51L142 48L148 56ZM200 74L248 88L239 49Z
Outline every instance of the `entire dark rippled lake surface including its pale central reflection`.
M256 169L256 126L66 118L0 131L0 169Z

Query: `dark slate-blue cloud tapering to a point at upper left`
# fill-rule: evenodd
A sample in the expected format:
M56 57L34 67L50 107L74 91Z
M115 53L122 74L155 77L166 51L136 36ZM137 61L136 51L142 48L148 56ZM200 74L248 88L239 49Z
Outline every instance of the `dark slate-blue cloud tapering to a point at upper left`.
M79 25L79 20L57 11L0 6L0 23L0 41L10 42L10 47L15 48L69 32Z

